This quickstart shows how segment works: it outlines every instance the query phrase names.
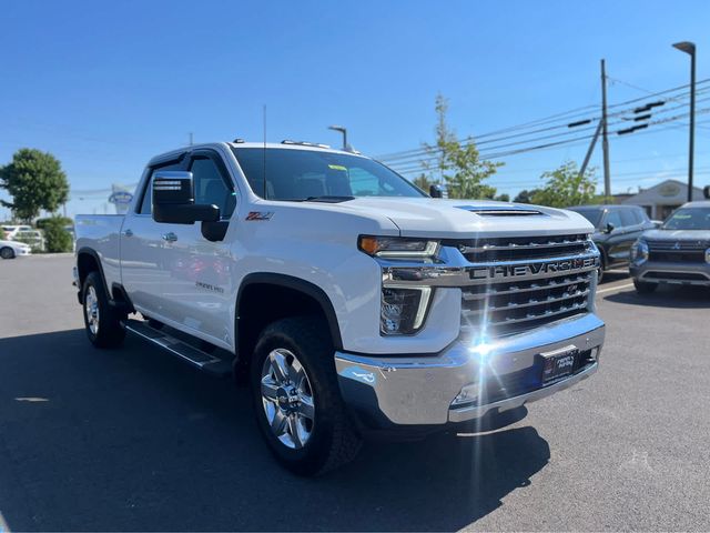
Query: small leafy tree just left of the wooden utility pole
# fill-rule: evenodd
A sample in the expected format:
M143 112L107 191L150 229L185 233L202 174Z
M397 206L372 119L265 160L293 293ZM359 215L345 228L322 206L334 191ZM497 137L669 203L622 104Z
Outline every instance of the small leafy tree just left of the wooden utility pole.
M597 182L595 169L588 169L579 175L577 163L567 161L557 170L545 172L541 177L545 187L532 194L532 203L552 208L567 208L591 203Z

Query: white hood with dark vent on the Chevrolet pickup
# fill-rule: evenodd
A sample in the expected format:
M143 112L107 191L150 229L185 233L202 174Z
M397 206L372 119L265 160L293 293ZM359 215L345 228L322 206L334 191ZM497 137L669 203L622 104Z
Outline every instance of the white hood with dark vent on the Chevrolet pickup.
M402 237L525 237L594 231L579 213L520 203L372 197L332 205L353 214L386 217Z

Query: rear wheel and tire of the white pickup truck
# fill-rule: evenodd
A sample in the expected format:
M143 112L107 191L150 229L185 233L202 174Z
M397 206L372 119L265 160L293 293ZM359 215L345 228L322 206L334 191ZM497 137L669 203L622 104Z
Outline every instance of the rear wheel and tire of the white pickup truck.
M109 303L109 294L99 272L90 272L82 288L87 336L95 348L114 348L123 343L126 314Z

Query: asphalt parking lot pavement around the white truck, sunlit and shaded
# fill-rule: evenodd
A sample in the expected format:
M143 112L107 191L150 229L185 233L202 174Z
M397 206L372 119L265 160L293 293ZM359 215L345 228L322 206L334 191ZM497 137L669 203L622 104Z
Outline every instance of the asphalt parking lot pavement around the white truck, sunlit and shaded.
M245 390L138 339L91 348L71 265L0 262L0 531L710 530L710 291L611 273L596 376L506 429L303 480Z

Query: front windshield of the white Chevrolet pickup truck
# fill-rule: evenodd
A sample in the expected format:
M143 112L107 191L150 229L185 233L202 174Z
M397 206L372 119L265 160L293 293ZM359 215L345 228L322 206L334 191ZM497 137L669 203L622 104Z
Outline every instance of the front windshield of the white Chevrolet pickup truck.
M384 164L366 158L278 148L237 147L232 150L254 193L268 200L425 195Z

